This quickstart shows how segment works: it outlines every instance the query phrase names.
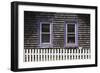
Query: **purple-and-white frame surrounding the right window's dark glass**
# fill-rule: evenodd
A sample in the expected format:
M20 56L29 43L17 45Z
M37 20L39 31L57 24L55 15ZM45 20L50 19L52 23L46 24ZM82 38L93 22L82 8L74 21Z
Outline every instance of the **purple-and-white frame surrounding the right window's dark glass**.
M68 31L67 31L68 24L75 25L75 43L68 43ZM65 47L78 47L78 24L76 22L65 24Z

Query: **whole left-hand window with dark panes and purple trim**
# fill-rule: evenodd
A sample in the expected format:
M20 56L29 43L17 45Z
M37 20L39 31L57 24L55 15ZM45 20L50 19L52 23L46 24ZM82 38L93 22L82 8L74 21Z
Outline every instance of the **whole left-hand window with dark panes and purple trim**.
M47 22L40 23L40 45L41 47L51 44L51 24ZM47 48L47 47L45 47Z

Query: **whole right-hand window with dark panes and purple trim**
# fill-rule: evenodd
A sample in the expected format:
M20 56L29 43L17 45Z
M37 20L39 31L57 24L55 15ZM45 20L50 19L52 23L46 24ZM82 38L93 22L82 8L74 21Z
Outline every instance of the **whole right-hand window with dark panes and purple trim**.
M78 45L77 24L66 24L66 47L76 47Z

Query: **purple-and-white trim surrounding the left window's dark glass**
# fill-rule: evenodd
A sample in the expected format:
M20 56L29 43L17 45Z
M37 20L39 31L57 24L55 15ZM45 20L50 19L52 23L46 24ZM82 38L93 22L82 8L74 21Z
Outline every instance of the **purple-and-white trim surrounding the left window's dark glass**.
M41 35L42 34L42 24L50 24L50 42L49 43L42 43L42 40L41 40L41 38L42 38L42 35ZM52 29L53 29L52 23L50 23L50 22L40 22L40 47L42 45L52 45Z

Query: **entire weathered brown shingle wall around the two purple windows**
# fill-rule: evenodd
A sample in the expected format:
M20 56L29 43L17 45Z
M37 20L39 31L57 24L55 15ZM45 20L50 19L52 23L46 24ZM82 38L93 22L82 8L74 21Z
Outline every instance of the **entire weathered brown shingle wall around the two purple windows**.
M78 46L90 48L90 15L51 12L24 12L24 48L40 48L40 22L53 24L53 48L64 47L65 24L77 22ZM48 47L51 48L51 47Z

